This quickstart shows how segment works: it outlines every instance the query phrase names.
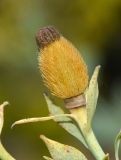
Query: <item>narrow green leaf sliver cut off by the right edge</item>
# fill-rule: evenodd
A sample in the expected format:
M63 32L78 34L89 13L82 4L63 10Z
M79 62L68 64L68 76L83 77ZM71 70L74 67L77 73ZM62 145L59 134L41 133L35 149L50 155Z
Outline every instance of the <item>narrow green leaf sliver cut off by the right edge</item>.
M119 160L118 152L119 152L120 141L121 141L121 130L115 139L115 158L116 160Z

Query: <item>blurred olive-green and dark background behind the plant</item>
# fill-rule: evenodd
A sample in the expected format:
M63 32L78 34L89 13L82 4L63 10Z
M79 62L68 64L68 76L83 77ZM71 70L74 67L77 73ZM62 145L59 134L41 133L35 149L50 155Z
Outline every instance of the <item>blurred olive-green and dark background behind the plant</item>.
M94 158L53 121L16 126L19 119L48 115L38 69L35 33L53 25L79 49L90 76L100 64L100 97L93 128L114 160L114 139L121 128L121 1L0 0L0 103L5 109L2 142L17 160L49 155L39 135L72 145ZM62 101L53 97L60 106Z

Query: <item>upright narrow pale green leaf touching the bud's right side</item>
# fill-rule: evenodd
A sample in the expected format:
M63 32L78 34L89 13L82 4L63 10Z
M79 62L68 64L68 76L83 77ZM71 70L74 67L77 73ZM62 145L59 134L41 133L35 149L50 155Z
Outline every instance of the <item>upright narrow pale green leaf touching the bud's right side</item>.
M89 83L89 88L86 91L86 101L87 101L87 124L88 127L91 126L91 122L96 110L97 99L98 99L98 73L100 66L97 66L94 70L92 78Z

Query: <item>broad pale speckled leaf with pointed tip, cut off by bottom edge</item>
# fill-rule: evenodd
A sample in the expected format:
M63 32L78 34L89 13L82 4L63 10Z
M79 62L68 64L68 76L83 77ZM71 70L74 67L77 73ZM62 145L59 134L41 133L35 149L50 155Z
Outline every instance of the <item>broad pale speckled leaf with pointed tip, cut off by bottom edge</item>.
M50 140L43 135L40 137L55 160L87 160L84 154L74 147Z

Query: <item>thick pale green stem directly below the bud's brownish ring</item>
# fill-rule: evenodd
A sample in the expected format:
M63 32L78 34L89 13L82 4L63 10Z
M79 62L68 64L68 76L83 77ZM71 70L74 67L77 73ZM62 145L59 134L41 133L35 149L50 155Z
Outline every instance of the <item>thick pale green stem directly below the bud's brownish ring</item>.
M70 111L71 114L75 116L76 122L83 134L85 142L87 143L89 150L91 151L93 156L96 158L96 160L103 160L105 158L105 153L99 145L92 129L87 129L86 107L82 106L80 108L75 108Z

